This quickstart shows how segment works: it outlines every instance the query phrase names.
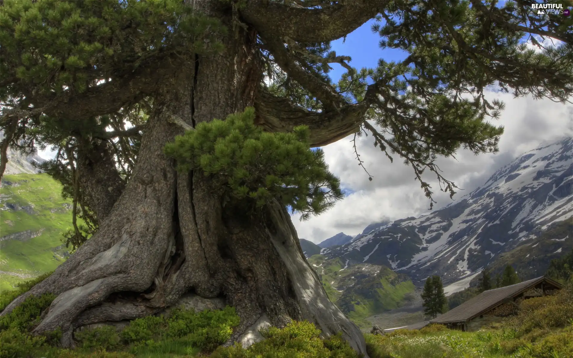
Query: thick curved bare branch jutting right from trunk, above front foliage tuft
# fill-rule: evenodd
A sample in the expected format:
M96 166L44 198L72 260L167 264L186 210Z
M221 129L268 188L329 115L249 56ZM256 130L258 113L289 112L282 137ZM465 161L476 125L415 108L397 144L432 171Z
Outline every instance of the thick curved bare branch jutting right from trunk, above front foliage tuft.
M365 119L368 103L363 101L359 104L345 104L338 110L310 112L260 88L254 107L257 111L257 125L265 131L290 132L297 125L308 125L311 129L311 147L320 147L358 131Z

